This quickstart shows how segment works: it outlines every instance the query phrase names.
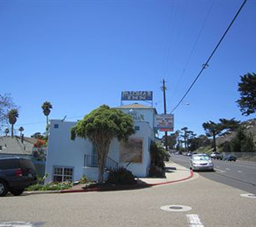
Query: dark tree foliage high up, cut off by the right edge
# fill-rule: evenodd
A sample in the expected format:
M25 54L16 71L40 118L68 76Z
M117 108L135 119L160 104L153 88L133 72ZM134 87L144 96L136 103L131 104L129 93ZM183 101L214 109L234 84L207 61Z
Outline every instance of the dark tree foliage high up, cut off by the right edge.
M250 115L256 112L256 74L247 73L241 76L241 82L238 83L240 98L237 103L242 115Z

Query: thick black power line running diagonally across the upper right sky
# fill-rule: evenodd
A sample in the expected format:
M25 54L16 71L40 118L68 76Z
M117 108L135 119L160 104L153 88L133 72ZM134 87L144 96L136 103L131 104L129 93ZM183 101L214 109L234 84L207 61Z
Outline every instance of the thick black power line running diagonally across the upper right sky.
M204 70L205 68L207 68L207 66L209 66L208 63L209 63L209 61L211 60L213 54L215 54L215 52L217 51L217 49L218 49L220 43L222 42L222 40L223 40L224 37L226 36L227 32L230 30L230 27L231 27L232 24L234 23L234 20L236 20L237 16L239 15L240 11L243 9L243 7L244 7L244 5L245 5L246 2L247 2L247 0L245 0L245 1L243 2L243 4L241 4L239 10L238 10L237 13L236 13L236 16L234 16L234 18L232 19L232 22L230 23L229 27L227 27L227 29L226 29L226 31L224 32L222 38L220 38L220 40L219 40L218 44L216 45L215 49L213 49L213 52L211 53L210 57L209 57L209 58L207 59L207 61L203 64L203 67L202 67L202 69L200 70L200 72L198 73L198 75L196 76L196 79L192 82L192 84L190 85L189 89L186 91L186 93L183 95L183 97L182 97L181 100L178 102L178 104L176 105L176 107L171 111L171 113L174 112L174 111L177 109L177 107L179 106L179 104L181 104L181 102L184 100L184 98L186 97L186 95L188 95L189 91L191 90L191 88L193 87L193 85L196 83L196 81L198 80L199 76L202 74L203 70Z

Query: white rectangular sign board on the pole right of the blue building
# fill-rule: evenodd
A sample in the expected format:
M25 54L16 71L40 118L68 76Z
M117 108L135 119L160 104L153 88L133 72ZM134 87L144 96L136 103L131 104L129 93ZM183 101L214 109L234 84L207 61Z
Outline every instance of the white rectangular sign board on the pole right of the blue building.
M174 131L174 115L155 115L154 127L162 132Z

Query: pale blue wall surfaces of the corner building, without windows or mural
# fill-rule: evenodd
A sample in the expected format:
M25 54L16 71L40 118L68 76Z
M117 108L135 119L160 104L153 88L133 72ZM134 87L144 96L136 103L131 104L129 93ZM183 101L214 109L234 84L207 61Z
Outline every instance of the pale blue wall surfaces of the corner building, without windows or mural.
M143 122L135 121L135 126L140 126L140 130L133 134L132 138L143 138L143 162L142 164L130 164L127 169L132 171L134 175L139 177L147 176L150 167L149 138L154 140L153 126L154 110L136 110L143 113ZM151 118L151 120L149 119ZM148 121L147 121L148 119ZM88 140L76 138L71 140L71 127L76 122L62 122L61 120L51 120L49 129L49 141L46 153L45 173L49 174L46 182L53 180L53 167L70 167L74 168L74 181L81 178L82 174L86 174L88 179L98 179L98 168L84 167L84 155L92 154L92 145ZM58 128L54 128L58 125ZM120 143L114 139L109 147L108 157L116 162L120 162ZM120 163L119 166L126 167L128 163Z

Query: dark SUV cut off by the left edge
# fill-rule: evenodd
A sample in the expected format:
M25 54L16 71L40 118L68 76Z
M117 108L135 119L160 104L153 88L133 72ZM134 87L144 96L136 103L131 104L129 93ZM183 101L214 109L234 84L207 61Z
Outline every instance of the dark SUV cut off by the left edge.
M0 158L0 196L8 191L20 195L24 189L36 182L36 170L32 161L25 158Z

